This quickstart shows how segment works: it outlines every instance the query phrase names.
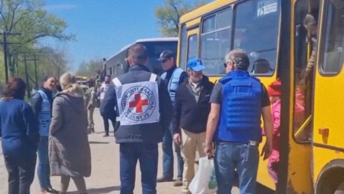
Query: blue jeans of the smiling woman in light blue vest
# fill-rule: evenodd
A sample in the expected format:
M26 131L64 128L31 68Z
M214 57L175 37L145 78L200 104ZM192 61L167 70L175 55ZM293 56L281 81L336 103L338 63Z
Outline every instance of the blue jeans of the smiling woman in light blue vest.
M50 165L48 153L49 137L41 136L40 144L38 146L38 167L37 176L42 189L51 187L50 184Z

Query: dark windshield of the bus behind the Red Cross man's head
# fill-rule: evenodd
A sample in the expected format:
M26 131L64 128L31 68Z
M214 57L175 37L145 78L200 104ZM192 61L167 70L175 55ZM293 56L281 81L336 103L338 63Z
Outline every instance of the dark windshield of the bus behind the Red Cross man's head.
M148 54L148 68L152 73L161 75L163 73L160 62L157 59L164 50L177 52L178 41L155 41L155 42L139 42L147 49Z

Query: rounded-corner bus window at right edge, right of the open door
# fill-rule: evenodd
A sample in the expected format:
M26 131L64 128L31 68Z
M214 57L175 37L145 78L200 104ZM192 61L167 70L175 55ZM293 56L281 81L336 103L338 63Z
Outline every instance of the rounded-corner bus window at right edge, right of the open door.
M331 0L326 3L323 41L320 56L320 72L323 74L338 73L343 64L344 7L343 0Z

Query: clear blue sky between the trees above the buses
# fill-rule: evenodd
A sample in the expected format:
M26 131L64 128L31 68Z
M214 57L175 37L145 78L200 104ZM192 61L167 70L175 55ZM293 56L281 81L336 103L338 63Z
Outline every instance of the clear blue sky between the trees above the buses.
M68 23L66 33L76 41L41 40L41 44L66 49L68 60L80 62L108 58L141 38L161 37L154 8L163 0L44 0L47 11Z

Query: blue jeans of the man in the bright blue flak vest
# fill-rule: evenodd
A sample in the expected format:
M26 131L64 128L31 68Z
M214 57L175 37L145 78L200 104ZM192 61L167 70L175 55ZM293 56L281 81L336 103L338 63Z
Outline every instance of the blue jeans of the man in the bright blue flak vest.
M239 176L240 193L255 194L258 162L258 146L243 142L218 144L214 156L217 194L231 193L235 169Z

